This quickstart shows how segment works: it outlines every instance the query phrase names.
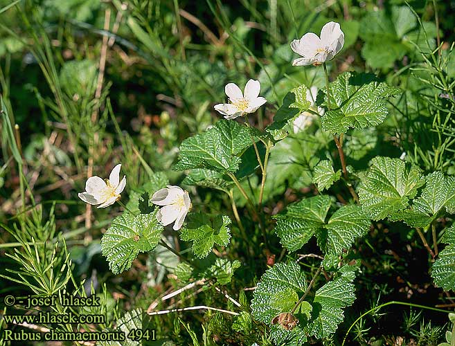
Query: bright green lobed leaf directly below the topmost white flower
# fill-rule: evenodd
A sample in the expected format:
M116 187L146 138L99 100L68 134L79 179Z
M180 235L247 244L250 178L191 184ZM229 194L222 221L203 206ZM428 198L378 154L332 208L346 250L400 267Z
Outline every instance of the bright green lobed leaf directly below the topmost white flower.
M351 127L380 125L389 113L386 99L397 92L371 73L342 73L330 83L332 109L324 113L322 128L331 134L342 134Z

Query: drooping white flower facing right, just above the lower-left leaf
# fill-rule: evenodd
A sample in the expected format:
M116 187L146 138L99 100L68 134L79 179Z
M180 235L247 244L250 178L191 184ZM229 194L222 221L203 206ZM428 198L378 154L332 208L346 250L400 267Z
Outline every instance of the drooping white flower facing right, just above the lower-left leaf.
M152 203L163 206L157 214L157 220L163 225L168 226L175 221L174 230L179 230L184 223L186 214L191 207L190 196L187 191L179 186L168 185L155 192L152 196Z

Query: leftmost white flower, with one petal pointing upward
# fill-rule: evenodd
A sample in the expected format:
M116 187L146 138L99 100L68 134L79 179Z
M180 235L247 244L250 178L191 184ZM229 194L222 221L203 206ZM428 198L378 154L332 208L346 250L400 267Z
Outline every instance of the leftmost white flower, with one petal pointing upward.
M78 194L79 198L85 203L98 205L98 208L106 208L114 204L120 199L120 194L126 185L126 176L123 176L120 181L120 167L119 163L114 167L109 180L102 180L99 176L91 176L85 183L85 191Z

